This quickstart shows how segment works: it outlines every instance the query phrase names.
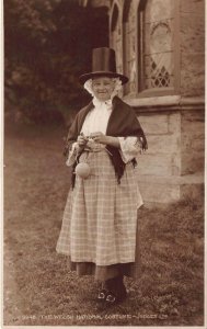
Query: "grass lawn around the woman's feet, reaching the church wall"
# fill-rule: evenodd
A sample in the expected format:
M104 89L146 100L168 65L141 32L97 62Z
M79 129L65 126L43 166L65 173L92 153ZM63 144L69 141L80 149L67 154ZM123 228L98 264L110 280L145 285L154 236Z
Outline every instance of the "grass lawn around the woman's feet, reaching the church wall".
M95 302L91 276L77 277L56 241L69 189L64 131L7 128L4 148L5 326L203 326L204 206L186 200L139 211L142 270L128 298Z

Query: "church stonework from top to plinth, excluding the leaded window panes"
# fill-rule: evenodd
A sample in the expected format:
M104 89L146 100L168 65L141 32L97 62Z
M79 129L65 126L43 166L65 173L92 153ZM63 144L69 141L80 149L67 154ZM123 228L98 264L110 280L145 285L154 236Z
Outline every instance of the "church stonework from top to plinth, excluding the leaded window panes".
M157 4L168 7L169 1L149 1L148 5L154 7L149 8L150 13L157 10L159 19ZM175 46L172 65L174 86L171 86L172 90L158 92L154 89L148 94L140 92L135 83L140 71L140 16L137 9L147 2L112 0L108 4L108 1L101 1L108 5L110 46L116 48L118 70L129 76L124 100L136 110L149 144L147 152L138 157L140 191L146 203L157 204L174 202L186 195L195 196L203 193L204 188L205 1L171 1L174 5L170 24ZM118 20L113 30L115 8ZM162 20L162 13L160 15ZM162 52L163 47L160 48ZM128 67L123 60L128 60Z

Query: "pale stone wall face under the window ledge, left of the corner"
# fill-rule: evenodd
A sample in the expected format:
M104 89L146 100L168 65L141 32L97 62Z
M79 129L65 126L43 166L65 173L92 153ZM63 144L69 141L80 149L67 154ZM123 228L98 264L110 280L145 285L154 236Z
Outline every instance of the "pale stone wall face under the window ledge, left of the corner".
M141 174L172 177L181 173L181 116L176 112L140 115L148 151L139 161Z

